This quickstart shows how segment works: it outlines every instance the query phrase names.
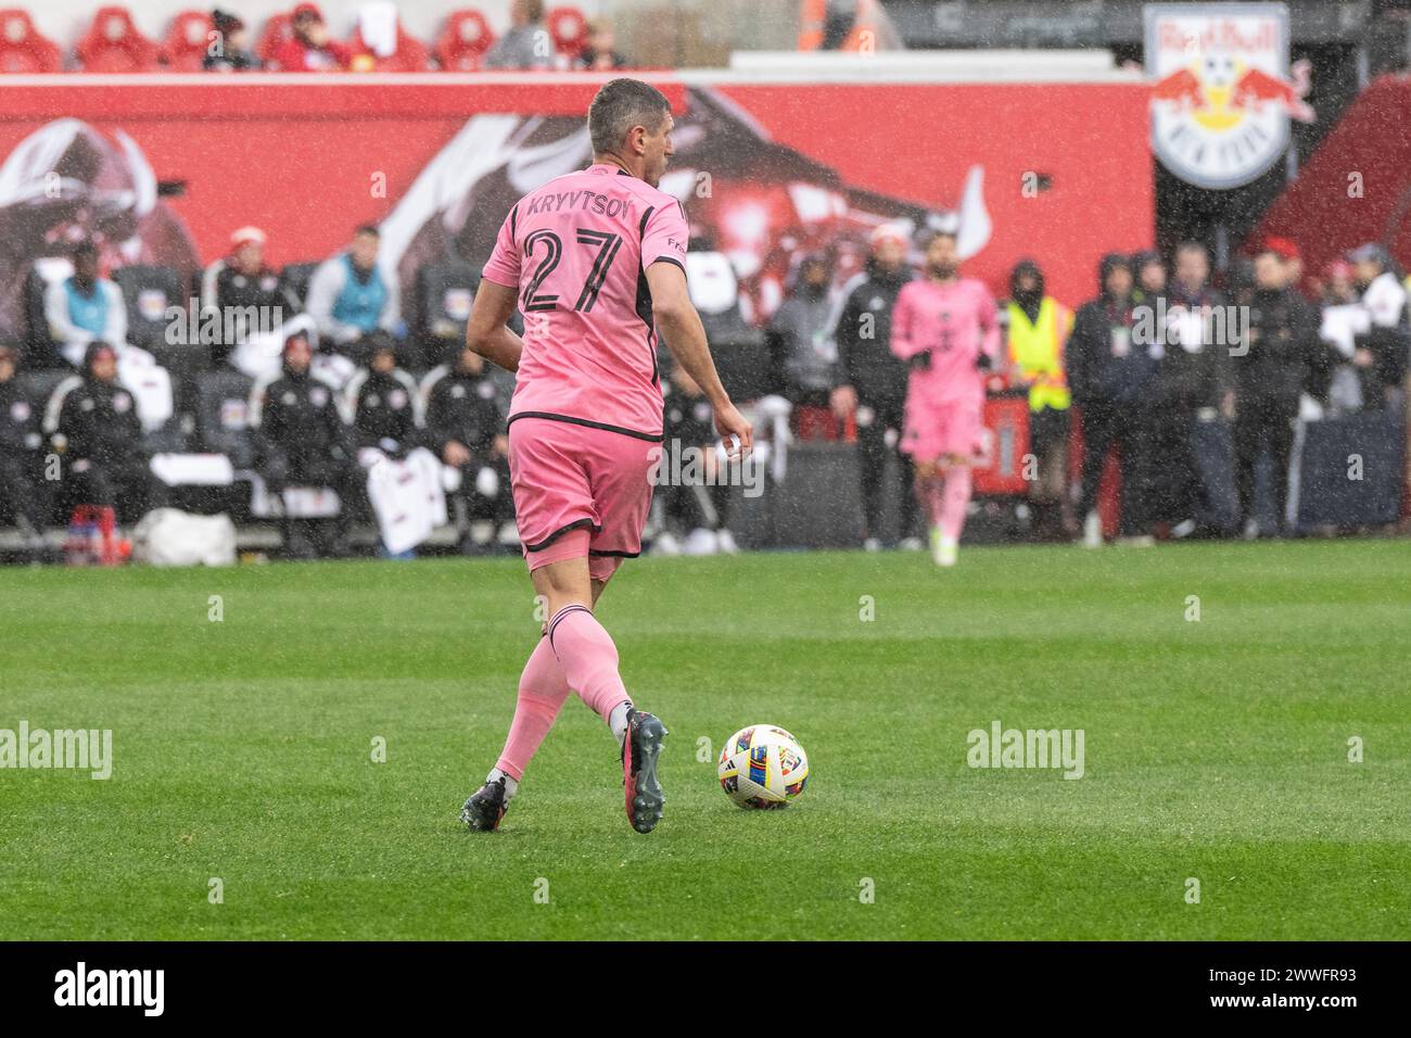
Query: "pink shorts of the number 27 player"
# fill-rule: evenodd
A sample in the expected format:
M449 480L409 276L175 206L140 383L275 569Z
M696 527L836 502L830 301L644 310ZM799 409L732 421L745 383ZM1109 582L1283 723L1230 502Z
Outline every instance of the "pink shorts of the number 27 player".
M509 422L509 486L531 572L588 556L588 573L607 580L622 559L642 554L652 507L656 441L553 418Z

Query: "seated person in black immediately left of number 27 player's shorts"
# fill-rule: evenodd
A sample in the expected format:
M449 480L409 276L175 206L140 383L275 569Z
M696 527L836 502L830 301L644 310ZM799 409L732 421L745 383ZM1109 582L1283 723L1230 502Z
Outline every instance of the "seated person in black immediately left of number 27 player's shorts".
M485 360L463 350L454 366L432 369L422 383L426 445L444 465L460 470L456 494L466 504L464 521L490 520L498 531L514 515L509 494L509 441L505 417L495 401L495 384ZM492 473L494 477L484 475ZM457 518L460 523L460 518ZM461 528L461 551L484 551Z

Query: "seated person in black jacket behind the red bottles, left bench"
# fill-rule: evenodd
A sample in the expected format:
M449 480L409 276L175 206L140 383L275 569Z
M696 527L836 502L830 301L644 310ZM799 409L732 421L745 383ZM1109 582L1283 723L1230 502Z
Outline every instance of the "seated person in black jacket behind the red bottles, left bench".
M143 445L137 401L119 383L117 352L107 343L89 343L82 374L55 387L44 431L63 458L75 504L106 506L131 524L162 497Z

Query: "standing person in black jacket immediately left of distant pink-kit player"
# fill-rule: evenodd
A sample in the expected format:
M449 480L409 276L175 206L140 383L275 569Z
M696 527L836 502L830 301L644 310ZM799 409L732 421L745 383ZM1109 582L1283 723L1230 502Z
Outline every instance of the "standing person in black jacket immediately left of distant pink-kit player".
M902 411L906 402L906 364L892 356L892 308L902 285L912 280L906 263L907 237L886 225L872 233L872 256L862 280L847 292L832 329L838 346L837 378L830 404L840 419L856 415L858 460L862 472L864 545L880 544L883 510L883 473L888 455L896 458L902 473L903 542L916 539L919 514L910 493L912 459L897 448L902 441Z

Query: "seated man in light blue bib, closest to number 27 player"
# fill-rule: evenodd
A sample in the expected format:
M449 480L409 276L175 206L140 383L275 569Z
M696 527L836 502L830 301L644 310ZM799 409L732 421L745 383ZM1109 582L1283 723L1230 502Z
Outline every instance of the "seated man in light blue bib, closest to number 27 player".
M402 322L396 275L377 263L380 241L377 227L358 227L349 250L325 260L309 280L308 312L319 340L358 367L371 362L374 347L396 335Z

